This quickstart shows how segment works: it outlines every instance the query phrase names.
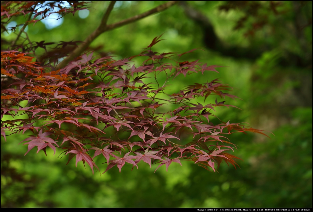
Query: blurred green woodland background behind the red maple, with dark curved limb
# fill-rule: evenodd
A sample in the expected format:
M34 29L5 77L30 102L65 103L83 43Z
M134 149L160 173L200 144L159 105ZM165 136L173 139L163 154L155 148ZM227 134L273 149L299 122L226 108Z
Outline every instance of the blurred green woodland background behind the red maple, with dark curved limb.
M117 2L109 23L162 3ZM28 36L38 42L83 41L108 4L92 2L90 13L28 25ZM179 78L170 89L220 78L242 99L226 103L242 110L225 107L216 115L275 136L230 135L239 146L234 155L243 159L237 170L221 164L213 173L182 161L153 173L156 165L150 169L141 162L139 170L125 165L121 173L114 167L101 176L82 162L77 168L74 161L65 165L60 150L54 156L49 150L48 156L35 150L24 156L27 146L18 143L29 132L8 136L7 142L1 137L1 207L312 207L312 2L185 2L105 32L91 47L118 59L130 57L163 32L165 40L154 51L200 47L204 51L182 59L227 66L218 68L219 74ZM2 36L11 41L16 34ZM99 168L102 173L106 165Z

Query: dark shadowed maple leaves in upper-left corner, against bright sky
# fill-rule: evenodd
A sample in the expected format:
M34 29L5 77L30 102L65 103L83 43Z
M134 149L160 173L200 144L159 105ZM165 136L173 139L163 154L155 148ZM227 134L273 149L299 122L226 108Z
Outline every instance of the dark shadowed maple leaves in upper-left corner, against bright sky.
M49 59L50 62L58 61L58 58L66 56L75 47L77 47L77 43L80 43L81 41L60 41L59 43L45 41L33 42L29 40L28 36L26 36L26 38L23 38L24 42L21 45L17 41L22 37L22 33L27 35L27 33L24 31L24 27L29 24L35 25L38 21L43 19L51 19L52 17L56 17L55 19L60 19L69 13L74 15L75 12L79 10L87 9L88 7L86 5L88 3L89 2L78 1L68 1L67 3L64 1L2 1L1 33L19 32L17 33L18 37L15 41L12 42L12 44L1 39L1 49L6 49L6 46L9 46L9 49L20 49L22 52L32 52L34 53L37 61L41 62L42 64L44 64L47 59ZM51 16L53 14L57 14L57 16ZM12 18L19 16L25 17L27 21L12 27L7 26L13 20ZM53 50L47 52L48 46ZM45 54L37 57L35 51L38 48L44 49Z

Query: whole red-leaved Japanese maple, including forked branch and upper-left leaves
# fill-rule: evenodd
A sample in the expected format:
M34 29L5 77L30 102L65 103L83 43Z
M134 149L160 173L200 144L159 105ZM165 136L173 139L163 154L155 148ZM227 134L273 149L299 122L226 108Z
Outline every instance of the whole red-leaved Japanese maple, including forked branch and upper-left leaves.
M110 2L100 26L84 42L46 43L30 41L25 27L52 13L60 17L74 14L86 9L87 2L69 1L67 7L60 1L1 2L2 32L15 30L4 25L10 18L28 16L16 40L8 50L1 51L1 119L3 115L14 118L1 121L1 135L6 139L14 133L31 131L33 136L21 141L28 145L25 155L34 147L45 153L47 147L54 153L56 148L61 148L69 161L75 157L76 165L79 161L87 162L92 172L99 166L94 162L95 157L104 157L105 171L115 165L121 171L125 163L138 168L141 160L150 167L157 163L156 169L162 165L168 168L172 162L180 164L180 160L191 160L214 172L222 161L236 168L238 158L230 154L236 145L227 135L246 131L264 133L229 121L214 125L209 116L214 116L215 108L232 105L217 98L209 104L199 99L206 100L210 95L237 98L227 93L231 88L215 79L182 87L178 93L167 89L178 75L217 72L219 66L198 60L181 61L182 55L195 49L182 54L154 52L152 47L161 41L161 36L155 37L140 54L121 60L85 51L99 34L160 12L176 2L106 25L114 3ZM56 7L59 10L54 10ZM38 8L45 9L38 12ZM21 37L22 33L26 37ZM67 45L74 48L62 52ZM46 46L54 50L36 55L36 49L46 50ZM131 65L135 57L142 57L144 62ZM59 58L63 58L62 62ZM159 73L166 76L163 83L158 81ZM23 107L20 102L25 100L28 103ZM176 108L165 111L166 103ZM22 115L27 118L18 118ZM191 140L187 139L190 134Z

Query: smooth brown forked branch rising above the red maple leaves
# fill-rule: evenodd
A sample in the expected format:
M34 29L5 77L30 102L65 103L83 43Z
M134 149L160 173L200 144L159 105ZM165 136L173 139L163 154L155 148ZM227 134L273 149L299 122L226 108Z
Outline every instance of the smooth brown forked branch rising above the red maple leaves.
M86 39L85 41L80 44L77 48L75 48L73 50L73 52L71 52L69 54L68 57L66 57L62 62L60 62L56 69L60 69L60 68L63 68L65 67L69 62L71 62L74 58L80 56L84 51L85 49L90 45L90 43L95 40L96 37L98 37L100 34L102 34L103 32L106 32L106 31L109 31L109 30L112 30L112 29L115 29L115 28L118 28L118 27L121 27L121 26L124 26L126 24L129 24L129 23L132 23L132 22L135 22L141 18L144 18L144 17L147 17L151 14L154 14L156 12L161 12L169 7L171 7L172 5L176 4L177 1L170 1L170 2L167 2L165 4L162 4L160 6L157 6L147 12L144 12L144 13L141 13L139 15L136 15L134 17L131 17L131 18L128 18L128 19L125 19L123 21L120 21L120 22L117 22L117 23L114 23L114 24L110 24L110 25L106 25L106 22L108 20L108 17L110 15L110 12L112 11L113 9L113 6L115 4L115 1L111 1L110 2L110 5L107 9L107 11L105 12L105 15L104 17L102 18L102 21L101 21L101 24L100 26L94 31L92 32Z

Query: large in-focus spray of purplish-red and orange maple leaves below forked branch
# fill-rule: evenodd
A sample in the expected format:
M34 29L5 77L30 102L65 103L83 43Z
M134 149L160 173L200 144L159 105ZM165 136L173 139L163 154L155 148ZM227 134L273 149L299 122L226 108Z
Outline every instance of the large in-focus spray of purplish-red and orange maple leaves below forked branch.
M232 129L259 131L229 122L215 126L209 122L208 116L212 115L209 111L214 111L214 107L230 106L225 105L224 101L205 106L190 102L191 99L211 94L234 98L233 95L223 93L222 90L228 86L218 80L187 86L186 90L178 94L168 95L168 101L177 104L176 110L157 113L157 108L162 107L156 101L157 94L164 93L166 85L156 87L142 81L157 71L166 72L170 79L178 74L186 76L189 71L215 71L214 66L198 62L183 65L177 62L175 66L160 62L165 58L164 54L154 53L137 68L128 65L129 58L93 59L90 53L61 70L46 72L43 67L32 62L33 58L27 54L1 52L1 74L14 81L8 89L1 91L2 116L28 116L26 119L3 121L1 134L5 136L5 131L24 133L30 130L36 136L24 140L28 144L26 154L36 146L38 151L45 151L47 146L54 151L59 147L64 149L64 153L72 154L69 160L76 155L76 164L83 160L91 168L97 167L90 156L90 150L95 150L93 157L102 153L107 160L106 170L115 165L121 170L125 162L137 166L141 160L151 166L151 159L158 161L159 166L167 167L172 162L180 163L182 159L193 160L214 171L215 162L219 164L225 160L235 165L233 159L236 157L225 152L233 150L235 146L224 145L232 144L225 141L222 135L231 133ZM140 56L147 57L144 53ZM69 75L70 71L75 71L76 75ZM18 103L23 100L28 100L27 107L19 106ZM38 124L38 120L43 122ZM69 127L71 130L65 130L62 123L72 125ZM101 123L103 129L100 129ZM116 133L105 136L105 131L113 131L111 126L116 129ZM194 140L187 145L177 142L180 139L174 135L188 129ZM128 133L126 139L119 139L118 132L121 131ZM110 160L110 157L114 159Z

